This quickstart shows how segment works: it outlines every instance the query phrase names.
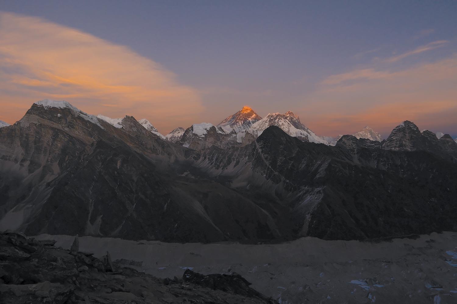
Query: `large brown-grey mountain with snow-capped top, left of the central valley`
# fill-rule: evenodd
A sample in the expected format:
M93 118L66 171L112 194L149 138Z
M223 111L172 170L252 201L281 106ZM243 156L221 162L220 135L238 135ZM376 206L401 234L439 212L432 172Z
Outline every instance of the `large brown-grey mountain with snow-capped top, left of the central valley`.
M122 128L90 119L34 104L0 130L2 229L192 242L281 237L255 201L180 176L191 150L133 117Z

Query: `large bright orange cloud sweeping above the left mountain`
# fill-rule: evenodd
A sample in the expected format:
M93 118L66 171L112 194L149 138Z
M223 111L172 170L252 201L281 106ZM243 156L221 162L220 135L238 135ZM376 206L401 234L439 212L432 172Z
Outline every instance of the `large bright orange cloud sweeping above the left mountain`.
M0 12L0 119L14 123L31 104L65 99L87 113L147 118L175 128L170 115L191 124L200 93L157 62L126 46L41 18Z

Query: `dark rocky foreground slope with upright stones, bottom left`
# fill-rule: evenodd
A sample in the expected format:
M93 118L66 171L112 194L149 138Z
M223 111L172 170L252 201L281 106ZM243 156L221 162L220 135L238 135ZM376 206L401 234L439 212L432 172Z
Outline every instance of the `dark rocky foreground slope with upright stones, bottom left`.
M0 234L0 303L276 303L236 273L159 279L54 244Z

